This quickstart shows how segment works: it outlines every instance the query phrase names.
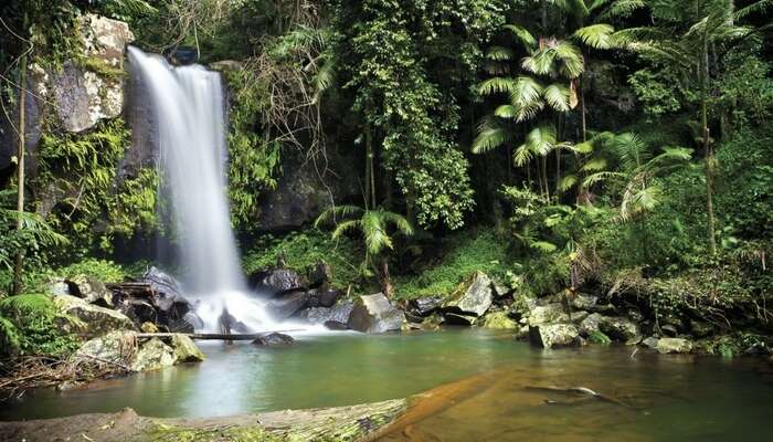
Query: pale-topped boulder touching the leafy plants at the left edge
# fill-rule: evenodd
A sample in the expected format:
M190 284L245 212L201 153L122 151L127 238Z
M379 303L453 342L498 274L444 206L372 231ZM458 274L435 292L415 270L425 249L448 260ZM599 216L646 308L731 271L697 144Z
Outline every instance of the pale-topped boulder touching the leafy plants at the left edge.
M105 335L113 330L134 330L135 325L126 315L88 304L80 297L71 295L54 296L54 303L60 312L80 319L78 335L84 339Z

